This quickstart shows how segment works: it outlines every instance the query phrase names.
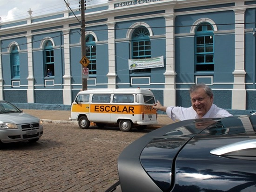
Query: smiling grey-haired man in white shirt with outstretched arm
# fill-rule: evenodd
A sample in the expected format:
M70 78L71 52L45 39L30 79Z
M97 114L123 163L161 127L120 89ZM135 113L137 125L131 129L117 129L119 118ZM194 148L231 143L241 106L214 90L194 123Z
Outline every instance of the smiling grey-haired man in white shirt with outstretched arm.
M196 84L189 89L191 107L162 106L157 101L153 106L156 110L166 112L172 120L200 119L200 118L222 118L232 116L228 111L213 104L213 93L209 86Z

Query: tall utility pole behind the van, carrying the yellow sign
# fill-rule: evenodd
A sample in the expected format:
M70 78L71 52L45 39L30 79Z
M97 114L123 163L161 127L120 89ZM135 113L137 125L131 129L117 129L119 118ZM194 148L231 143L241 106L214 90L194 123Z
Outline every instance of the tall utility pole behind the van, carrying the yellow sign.
M80 0L80 6L81 6L81 58L86 57L86 45L85 45L85 0ZM83 70L83 66L82 66ZM81 76L82 76L82 70L81 70ZM87 90L87 79L82 78L82 90Z

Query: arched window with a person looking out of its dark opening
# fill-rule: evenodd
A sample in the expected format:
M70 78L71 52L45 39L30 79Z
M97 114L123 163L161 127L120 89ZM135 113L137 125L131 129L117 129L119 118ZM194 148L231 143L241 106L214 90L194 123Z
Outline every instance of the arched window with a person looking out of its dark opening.
M54 48L53 48L53 43L50 40L47 40L47 42L45 43L44 58L45 58L45 76L54 75ZM51 73L49 73L49 71Z

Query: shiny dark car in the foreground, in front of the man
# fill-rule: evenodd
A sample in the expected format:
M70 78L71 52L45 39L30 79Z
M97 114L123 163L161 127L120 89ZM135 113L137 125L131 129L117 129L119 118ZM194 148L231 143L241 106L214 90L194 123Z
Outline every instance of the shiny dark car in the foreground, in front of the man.
M191 119L130 144L107 192L256 192L256 115Z

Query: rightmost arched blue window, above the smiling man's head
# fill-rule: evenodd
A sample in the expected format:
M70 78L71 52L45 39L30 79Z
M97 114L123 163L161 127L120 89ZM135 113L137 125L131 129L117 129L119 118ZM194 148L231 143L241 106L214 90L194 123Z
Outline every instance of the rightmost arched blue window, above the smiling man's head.
M214 71L214 35L209 23L201 23L195 31L195 71Z

